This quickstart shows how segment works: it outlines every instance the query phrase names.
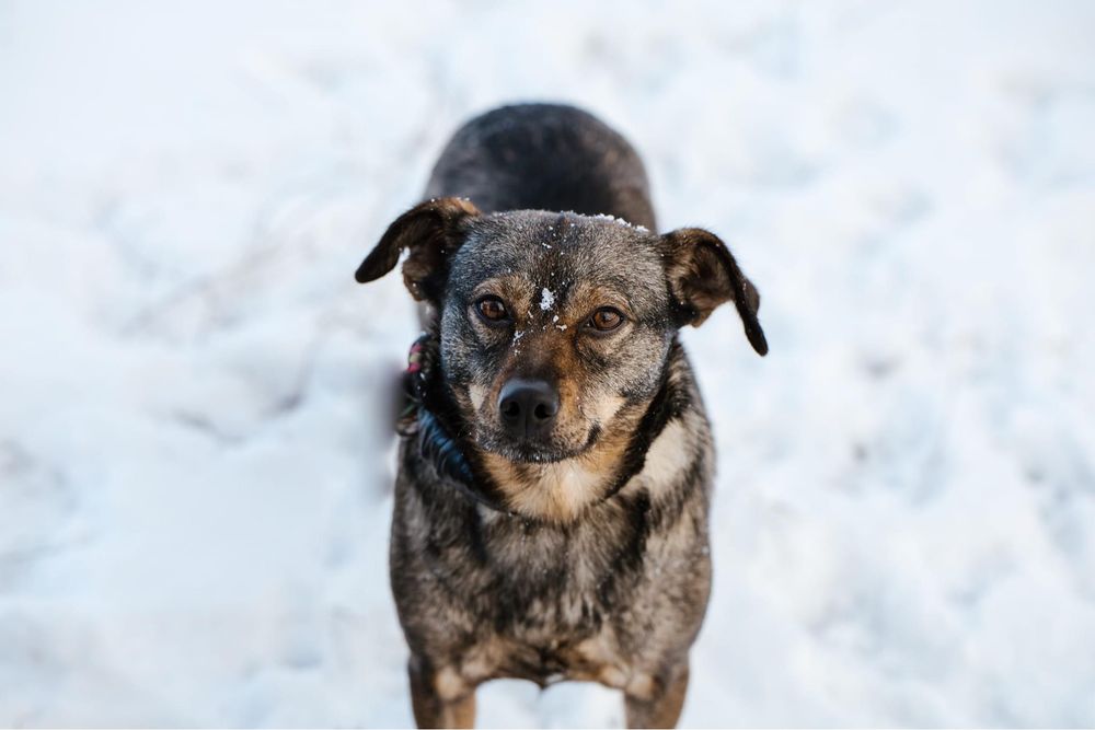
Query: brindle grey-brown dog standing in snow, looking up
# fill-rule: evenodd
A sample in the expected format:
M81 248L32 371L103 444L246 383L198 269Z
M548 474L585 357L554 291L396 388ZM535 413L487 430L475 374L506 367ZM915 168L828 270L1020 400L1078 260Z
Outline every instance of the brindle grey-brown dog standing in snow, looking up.
M673 727L711 587L711 429L678 339L760 297L714 233L658 234L632 146L570 106L461 127L357 269L395 267L407 370L391 587L419 727L473 727L492 679L600 682Z

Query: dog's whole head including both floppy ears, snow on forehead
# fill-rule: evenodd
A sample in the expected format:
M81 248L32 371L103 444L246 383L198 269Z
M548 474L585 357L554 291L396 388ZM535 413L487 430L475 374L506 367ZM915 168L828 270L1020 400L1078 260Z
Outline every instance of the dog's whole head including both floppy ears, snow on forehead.
M357 280L390 271L403 251L407 288L439 313L441 372L470 441L516 475L619 453L662 385L678 328L724 302L768 351L756 288L700 229L657 235L608 217L481 215L440 198L392 223Z

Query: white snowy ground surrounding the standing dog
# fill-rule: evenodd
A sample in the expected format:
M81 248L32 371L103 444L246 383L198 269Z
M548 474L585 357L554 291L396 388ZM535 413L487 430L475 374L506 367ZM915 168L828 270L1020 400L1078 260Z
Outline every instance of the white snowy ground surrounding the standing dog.
M351 274L565 100L731 242L687 726L1095 725L1095 5L0 4L0 725L406 726L415 324ZM592 686L481 725L619 725Z

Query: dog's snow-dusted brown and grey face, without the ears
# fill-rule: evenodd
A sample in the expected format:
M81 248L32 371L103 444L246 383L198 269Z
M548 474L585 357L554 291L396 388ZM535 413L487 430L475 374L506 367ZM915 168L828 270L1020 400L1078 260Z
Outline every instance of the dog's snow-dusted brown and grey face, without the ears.
M480 448L556 462L649 401L676 327L657 236L574 215L479 217L450 263L441 361Z

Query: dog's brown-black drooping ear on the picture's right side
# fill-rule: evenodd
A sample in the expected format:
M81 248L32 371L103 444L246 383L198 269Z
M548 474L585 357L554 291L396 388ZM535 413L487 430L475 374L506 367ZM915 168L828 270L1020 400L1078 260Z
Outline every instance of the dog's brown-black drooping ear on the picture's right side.
M768 340L757 320L760 293L738 268L730 250L710 231L682 228L661 236L669 291L682 324L700 326L716 306L733 301L741 316L746 337L759 355L768 354Z

